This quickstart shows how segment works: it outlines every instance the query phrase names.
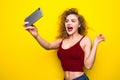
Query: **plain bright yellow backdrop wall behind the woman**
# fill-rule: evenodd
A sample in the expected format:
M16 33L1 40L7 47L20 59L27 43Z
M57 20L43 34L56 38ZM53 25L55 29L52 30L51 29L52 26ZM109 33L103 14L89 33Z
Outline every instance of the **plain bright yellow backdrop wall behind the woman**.
M47 41L55 40L58 16L75 7L85 17L88 36L102 33L96 61L85 70L90 80L120 80L119 0L2 0L0 2L0 80L62 80L56 51L46 51L23 28L23 21L38 7L44 17L35 25Z

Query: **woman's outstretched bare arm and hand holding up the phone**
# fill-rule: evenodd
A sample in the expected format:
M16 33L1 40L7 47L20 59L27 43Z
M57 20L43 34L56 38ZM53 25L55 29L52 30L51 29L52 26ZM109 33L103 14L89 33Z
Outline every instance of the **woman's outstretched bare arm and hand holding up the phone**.
M49 43L38 34L37 28L35 26L26 26L27 24L28 22L24 23L25 29L37 40L37 42L43 48L45 48L46 50L50 50L50 49L57 49L59 47L62 39L57 39L56 41Z

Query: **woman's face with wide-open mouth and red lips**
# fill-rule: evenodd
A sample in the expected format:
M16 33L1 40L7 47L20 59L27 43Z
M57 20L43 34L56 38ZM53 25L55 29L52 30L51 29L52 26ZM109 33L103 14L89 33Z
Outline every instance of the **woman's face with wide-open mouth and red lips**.
M79 27L80 27L80 24L79 24L77 15L70 14L66 17L65 28L68 35L73 35L74 33L78 33Z

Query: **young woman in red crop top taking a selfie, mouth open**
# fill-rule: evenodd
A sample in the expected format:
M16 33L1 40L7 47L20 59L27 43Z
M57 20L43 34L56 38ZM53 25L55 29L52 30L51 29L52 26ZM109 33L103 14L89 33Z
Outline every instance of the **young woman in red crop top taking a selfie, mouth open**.
M35 26L27 26L25 29L46 50L58 49L57 55L65 72L64 80L89 80L85 75L83 66L91 69L94 64L96 49L99 42L104 41L103 35L98 35L94 43L86 36L86 24L82 15L76 8L63 12L60 21L60 35L54 42L45 41Z

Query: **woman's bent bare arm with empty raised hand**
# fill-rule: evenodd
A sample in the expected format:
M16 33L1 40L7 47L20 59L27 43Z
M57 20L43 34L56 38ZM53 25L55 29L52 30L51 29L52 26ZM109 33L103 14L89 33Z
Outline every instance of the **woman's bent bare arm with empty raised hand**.
M102 35L95 37L94 44L92 46L91 40L87 37L85 39L85 59L84 64L87 69L91 69L96 57L96 50L99 42L104 41L105 38Z

